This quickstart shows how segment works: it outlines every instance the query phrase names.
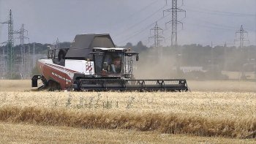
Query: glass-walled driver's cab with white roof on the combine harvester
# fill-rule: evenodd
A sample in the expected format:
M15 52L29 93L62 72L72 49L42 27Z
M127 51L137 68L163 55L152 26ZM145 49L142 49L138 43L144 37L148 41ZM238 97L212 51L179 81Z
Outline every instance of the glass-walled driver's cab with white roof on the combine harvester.
M133 78L133 61L138 53L125 48L93 48L95 77Z

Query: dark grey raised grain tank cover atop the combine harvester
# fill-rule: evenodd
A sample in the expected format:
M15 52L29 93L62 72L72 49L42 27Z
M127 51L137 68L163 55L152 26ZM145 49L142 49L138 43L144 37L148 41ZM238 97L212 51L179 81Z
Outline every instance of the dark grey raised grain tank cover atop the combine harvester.
M75 36L66 58L86 59L91 58L92 48L115 48L109 34L78 34Z

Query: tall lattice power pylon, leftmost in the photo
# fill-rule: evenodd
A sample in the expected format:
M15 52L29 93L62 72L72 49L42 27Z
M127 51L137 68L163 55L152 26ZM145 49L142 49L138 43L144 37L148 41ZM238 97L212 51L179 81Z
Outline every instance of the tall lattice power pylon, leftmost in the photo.
M13 64L14 64L14 39L13 39L13 20L12 20L12 10L9 13L9 20L4 22L8 24L8 41L7 41L7 73L8 77L11 79L13 74Z

